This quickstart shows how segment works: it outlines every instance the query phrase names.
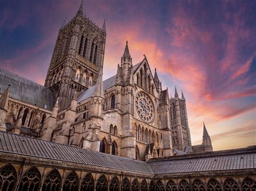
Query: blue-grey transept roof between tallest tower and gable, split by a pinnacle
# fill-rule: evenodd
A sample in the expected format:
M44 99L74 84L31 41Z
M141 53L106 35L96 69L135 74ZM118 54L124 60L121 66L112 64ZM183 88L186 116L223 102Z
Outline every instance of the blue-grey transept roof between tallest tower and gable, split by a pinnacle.
M103 89L106 90L106 89L109 89L109 88L113 87L115 82L116 82L116 75L110 77L109 79L104 80L103 81ZM95 89L95 86L84 90L77 98L78 103L80 103L80 102L86 100L87 98L91 97L92 94L93 94L94 89Z

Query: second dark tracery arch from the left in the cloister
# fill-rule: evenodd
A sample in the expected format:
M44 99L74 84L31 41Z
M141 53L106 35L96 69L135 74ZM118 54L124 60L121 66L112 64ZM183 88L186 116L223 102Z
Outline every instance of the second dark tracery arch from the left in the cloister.
M26 191L26 190L39 190L41 185L41 174L36 167L31 167L26 171L19 183L19 191Z

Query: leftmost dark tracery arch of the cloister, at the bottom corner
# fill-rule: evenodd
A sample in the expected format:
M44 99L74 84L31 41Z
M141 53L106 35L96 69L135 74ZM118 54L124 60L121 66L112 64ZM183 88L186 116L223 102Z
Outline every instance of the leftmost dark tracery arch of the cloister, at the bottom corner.
M0 190L14 190L16 182L17 173L12 165L6 164L0 168Z

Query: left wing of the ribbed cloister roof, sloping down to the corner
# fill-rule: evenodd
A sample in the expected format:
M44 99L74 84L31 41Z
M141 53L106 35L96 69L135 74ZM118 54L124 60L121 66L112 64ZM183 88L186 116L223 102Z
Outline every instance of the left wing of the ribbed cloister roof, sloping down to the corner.
M0 132L0 152L152 174L146 162Z

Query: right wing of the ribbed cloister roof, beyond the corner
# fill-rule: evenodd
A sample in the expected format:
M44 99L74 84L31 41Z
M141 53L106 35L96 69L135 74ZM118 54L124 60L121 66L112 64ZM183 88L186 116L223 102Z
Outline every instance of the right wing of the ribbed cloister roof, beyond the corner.
M238 149L239 151L239 149ZM186 154L149 161L156 174L227 171L256 168L256 150L251 152Z

